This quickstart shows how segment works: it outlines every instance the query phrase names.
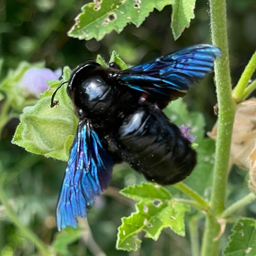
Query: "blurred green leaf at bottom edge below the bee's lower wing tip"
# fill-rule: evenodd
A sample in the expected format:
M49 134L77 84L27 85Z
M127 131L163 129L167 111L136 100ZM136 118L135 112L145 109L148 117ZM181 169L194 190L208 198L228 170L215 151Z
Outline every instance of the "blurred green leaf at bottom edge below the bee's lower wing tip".
M60 233L56 236L52 250L54 253L61 253L61 255L70 255L67 246L70 243L74 243L77 239L81 237L82 229L74 229L72 227L67 227L62 229Z

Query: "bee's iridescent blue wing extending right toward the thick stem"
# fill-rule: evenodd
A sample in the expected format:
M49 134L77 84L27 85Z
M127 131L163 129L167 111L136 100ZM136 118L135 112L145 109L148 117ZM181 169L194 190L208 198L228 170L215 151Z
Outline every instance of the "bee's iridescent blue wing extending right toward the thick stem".
M119 77L130 88L174 100L213 71L214 61L220 56L221 50L217 47L195 45L123 70Z

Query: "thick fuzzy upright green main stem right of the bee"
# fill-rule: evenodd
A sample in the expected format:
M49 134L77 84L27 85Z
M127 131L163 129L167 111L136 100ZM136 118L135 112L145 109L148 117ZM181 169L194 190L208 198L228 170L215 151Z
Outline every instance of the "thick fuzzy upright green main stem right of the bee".
M215 239L216 237L219 238L220 234L220 224L217 222L217 219L224 209L231 135L236 109L236 103L231 96L226 2L225 0L210 0L209 2L212 42L221 48L222 57L218 58L215 64L216 92L219 108L216 159L210 211L206 217L201 256L219 255L220 239Z

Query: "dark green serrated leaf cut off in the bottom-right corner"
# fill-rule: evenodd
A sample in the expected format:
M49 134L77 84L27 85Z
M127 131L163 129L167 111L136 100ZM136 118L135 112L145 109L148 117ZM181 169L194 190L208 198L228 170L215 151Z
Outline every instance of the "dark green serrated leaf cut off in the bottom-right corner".
M224 249L225 256L256 255L256 221L243 218L236 222L229 236L228 246Z

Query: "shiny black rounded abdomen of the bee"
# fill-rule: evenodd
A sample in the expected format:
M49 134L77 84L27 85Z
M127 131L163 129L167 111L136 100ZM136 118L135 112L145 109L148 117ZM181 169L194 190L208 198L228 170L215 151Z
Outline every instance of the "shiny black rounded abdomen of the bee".
M149 181L162 185L185 179L196 165L196 152L179 128L153 105L135 109L108 145Z

